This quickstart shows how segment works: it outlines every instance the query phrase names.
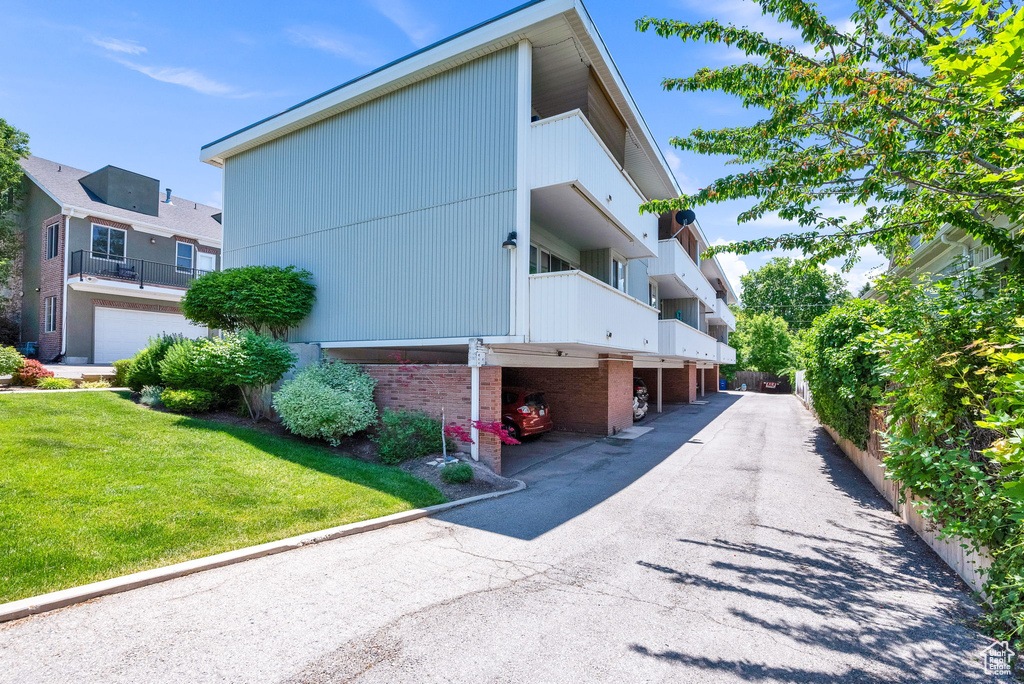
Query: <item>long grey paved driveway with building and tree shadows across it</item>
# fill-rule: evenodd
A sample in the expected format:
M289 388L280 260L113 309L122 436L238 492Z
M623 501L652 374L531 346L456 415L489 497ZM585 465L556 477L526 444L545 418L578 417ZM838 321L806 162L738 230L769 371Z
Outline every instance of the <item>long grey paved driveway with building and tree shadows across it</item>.
M4 682L983 679L958 582L791 396L524 493L0 627Z

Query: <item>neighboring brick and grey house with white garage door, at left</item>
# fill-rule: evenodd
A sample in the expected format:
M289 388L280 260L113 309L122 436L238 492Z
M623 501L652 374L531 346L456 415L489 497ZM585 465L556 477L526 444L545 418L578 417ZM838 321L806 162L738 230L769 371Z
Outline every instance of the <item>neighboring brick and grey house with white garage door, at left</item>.
M22 161L20 345L43 361L109 364L153 335L207 334L181 315L188 284L220 267L220 210L162 195L160 181Z

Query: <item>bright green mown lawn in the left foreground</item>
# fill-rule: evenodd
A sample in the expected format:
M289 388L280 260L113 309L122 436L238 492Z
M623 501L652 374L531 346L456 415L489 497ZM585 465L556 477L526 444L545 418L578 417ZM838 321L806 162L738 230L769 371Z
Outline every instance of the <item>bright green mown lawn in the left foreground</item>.
M443 501L398 469L127 393L0 395L0 603Z

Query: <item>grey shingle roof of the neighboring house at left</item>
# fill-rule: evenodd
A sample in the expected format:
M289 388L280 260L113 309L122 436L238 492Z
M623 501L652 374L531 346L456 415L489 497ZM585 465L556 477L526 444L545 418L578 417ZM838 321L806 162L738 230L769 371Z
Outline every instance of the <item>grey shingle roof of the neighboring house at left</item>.
M213 218L214 214L219 214L221 211L216 207L172 195L171 204L164 202L159 204L159 216L150 216L93 200L79 182L91 171L82 171L65 164L32 156L22 160L22 168L37 184L55 197L60 204L123 218L126 223L139 222L156 225L173 230L175 234L182 237L217 242L221 239L221 225ZM162 194L161 199L163 199Z

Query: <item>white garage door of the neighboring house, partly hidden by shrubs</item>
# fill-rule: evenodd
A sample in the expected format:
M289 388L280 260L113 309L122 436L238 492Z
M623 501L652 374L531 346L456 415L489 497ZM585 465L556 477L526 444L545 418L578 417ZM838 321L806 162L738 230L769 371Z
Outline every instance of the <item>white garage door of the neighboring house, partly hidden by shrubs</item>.
M194 326L178 313L96 307L94 317L94 364L131 358L135 352L145 347L151 337L163 333L185 337L207 335L206 328Z

